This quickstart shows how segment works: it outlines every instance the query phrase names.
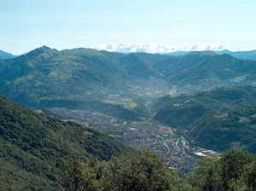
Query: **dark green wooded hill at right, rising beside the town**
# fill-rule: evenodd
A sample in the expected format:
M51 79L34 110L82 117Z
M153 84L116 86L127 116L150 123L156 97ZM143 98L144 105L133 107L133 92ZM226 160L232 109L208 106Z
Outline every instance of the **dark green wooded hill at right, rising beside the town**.
M191 143L218 151L256 151L256 88L252 86L165 96L154 107L155 120L177 128Z

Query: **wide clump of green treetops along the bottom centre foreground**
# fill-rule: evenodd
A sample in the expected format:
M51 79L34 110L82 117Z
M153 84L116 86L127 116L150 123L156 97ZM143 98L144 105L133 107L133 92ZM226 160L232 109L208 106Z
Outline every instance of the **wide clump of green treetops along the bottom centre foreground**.
M140 155L113 157L109 162L77 158L63 164L58 190L167 191L193 190L169 170L157 154L143 150Z

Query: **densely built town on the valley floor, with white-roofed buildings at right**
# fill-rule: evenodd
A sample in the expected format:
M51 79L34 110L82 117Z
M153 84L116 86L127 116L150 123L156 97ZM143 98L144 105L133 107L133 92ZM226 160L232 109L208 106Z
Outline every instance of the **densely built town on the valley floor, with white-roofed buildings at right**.
M51 113L59 116L86 121L97 130L131 146L132 148L151 148L160 157L166 159L166 165L180 173L187 174L193 170L195 162L203 156L219 157L220 153L199 147L190 147L185 137L176 129L149 122L122 122L101 113L84 110L51 108Z

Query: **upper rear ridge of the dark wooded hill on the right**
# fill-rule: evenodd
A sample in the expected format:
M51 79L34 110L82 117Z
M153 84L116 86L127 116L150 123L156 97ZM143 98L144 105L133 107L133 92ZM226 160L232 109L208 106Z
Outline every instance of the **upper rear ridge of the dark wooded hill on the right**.
M164 107L185 107L201 104L215 112L250 107L256 103L256 88L252 86L227 87L191 95L164 96L154 103L159 111Z

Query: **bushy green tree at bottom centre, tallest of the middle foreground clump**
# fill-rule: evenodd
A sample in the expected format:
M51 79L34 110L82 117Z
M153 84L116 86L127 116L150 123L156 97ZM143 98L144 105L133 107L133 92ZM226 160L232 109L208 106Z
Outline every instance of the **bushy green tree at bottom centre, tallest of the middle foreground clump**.
M143 150L140 156L114 157L104 171L104 190L173 190L169 177L172 173L157 154Z

